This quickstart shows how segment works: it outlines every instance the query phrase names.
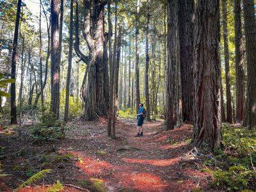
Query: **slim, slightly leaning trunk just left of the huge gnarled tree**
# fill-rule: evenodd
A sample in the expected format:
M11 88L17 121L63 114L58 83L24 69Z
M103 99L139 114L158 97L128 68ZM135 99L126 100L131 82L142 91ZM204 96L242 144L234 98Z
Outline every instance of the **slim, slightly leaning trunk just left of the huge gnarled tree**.
M69 86L70 86L70 75L71 75L71 67L72 67L72 50L73 50L73 0L70 1L68 72L67 72L67 84L66 84L65 113L64 113L65 122L67 122L68 120Z

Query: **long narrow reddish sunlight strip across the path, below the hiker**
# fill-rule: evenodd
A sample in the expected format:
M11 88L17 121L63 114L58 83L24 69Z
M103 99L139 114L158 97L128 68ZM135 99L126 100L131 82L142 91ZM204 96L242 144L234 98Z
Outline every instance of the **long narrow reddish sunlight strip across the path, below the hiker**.
M180 161L180 158L174 159L127 159L123 158L123 161L126 163L141 163L141 164L150 164L154 166L170 166Z

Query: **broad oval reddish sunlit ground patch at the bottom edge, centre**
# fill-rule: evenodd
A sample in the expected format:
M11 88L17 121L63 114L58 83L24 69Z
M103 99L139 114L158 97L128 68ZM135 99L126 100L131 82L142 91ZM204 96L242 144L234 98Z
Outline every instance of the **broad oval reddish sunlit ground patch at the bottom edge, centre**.
M166 181L151 173L122 173L116 177L119 177L123 187L140 191L164 191L169 186Z

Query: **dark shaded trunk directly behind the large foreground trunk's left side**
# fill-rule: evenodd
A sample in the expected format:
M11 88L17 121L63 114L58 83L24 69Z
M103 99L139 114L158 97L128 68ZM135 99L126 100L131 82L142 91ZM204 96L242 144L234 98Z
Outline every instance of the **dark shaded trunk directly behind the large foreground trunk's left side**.
M194 0L180 1L180 74L182 85L182 115L184 121L193 121L193 15Z

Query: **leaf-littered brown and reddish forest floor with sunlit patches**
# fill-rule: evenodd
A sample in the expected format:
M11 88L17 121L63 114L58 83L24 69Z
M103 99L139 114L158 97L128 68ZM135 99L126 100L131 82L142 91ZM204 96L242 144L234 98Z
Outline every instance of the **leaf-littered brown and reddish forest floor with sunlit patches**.
M8 129L8 134L0 130L1 169L10 174L1 177L0 189L12 191L30 173L51 169L43 180L20 191L47 191L56 180L65 191L209 190L211 177L201 171L202 161L191 153L192 125L163 131L163 122L145 122L144 136L136 138L136 120L120 119L117 139L111 140L107 123L104 118L72 120L64 140L44 145L29 140L28 127L23 138L15 129Z

